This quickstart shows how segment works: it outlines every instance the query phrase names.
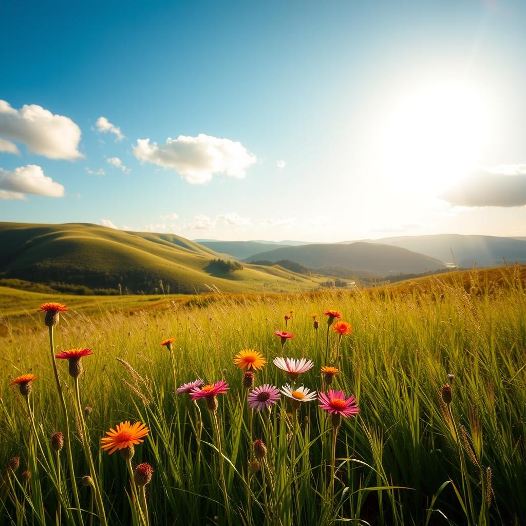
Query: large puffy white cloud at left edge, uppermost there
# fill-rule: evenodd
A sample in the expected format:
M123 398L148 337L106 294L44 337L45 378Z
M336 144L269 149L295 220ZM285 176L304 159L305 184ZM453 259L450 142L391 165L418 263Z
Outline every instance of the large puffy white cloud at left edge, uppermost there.
M54 115L36 104L17 110L0 100L0 137L24 143L29 150L49 159L74 160L78 151L80 128L69 117Z

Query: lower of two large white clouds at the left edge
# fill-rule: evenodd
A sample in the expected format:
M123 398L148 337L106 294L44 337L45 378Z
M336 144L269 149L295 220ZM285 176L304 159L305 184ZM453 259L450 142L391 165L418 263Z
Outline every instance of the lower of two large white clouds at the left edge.
M64 187L44 175L40 166L27 165L13 171L0 168L0 189L17 194L36 194L48 197L62 197ZM12 197L13 198L13 197ZM19 199L19 197L14 197Z

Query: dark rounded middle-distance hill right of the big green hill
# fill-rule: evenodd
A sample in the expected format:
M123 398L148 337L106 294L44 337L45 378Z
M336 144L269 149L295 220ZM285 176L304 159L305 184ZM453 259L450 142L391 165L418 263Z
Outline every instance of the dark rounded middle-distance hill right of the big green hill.
M288 259L314 269L352 269L357 274L417 274L442 270L446 265L438 259L410 250L358 241L350 245L317 244L282 247L261 252L248 261Z

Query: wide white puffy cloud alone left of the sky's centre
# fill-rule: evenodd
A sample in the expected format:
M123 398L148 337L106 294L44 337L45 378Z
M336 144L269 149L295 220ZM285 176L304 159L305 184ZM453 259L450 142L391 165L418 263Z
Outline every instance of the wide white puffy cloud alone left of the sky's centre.
M257 161L241 143L205 134L168 137L160 146L150 144L150 139L137 139L134 154L141 161L174 169L195 185L208 183L214 174L244 178L246 169Z

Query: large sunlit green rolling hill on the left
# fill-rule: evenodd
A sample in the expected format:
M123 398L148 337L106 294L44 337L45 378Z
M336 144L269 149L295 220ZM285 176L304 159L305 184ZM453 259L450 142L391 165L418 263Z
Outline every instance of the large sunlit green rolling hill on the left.
M310 277L280 267L244 265L242 270L228 272L214 264L221 255L173 234L90 224L1 223L0 246L0 278L87 287L106 294L119 287L156 293L161 291L161 281L162 288L173 294L214 288L224 292L294 291L317 285Z

